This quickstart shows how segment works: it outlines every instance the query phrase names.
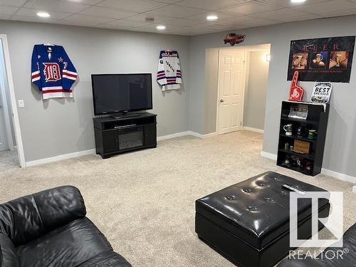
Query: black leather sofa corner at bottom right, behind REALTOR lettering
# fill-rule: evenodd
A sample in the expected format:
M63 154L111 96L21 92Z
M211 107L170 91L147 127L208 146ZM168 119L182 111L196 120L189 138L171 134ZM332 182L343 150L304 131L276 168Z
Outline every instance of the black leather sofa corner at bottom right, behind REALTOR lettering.
M343 236L342 248L326 248L317 258L300 256L285 259L278 267L355 267L356 266L356 224Z

